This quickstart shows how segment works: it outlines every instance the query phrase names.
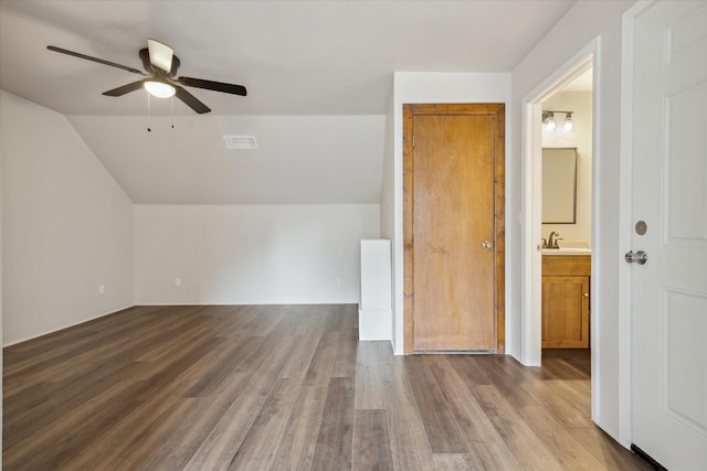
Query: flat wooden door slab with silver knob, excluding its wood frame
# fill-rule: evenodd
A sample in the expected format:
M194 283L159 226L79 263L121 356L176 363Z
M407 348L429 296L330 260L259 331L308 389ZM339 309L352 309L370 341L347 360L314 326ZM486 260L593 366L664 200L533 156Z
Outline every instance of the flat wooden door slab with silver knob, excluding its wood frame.
M415 350L494 350L493 121L414 118ZM422 296L424 293L424 296Z

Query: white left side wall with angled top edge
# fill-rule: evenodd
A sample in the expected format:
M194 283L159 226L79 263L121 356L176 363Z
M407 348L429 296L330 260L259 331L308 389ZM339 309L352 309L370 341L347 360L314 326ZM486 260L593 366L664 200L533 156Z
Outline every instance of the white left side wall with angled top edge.
M3 344L133 306L133 204L66 118L0 90L0 158Z

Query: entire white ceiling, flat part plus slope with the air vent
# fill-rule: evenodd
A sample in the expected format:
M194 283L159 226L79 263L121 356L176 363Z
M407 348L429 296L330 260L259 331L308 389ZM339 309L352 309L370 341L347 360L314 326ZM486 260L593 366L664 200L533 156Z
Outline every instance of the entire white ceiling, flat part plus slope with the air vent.
M0 88L68 116L134 202L376 203L392 73L510 72L572 4L0 0ZM201 116L152 99L152 120L178 126L147 133L144 90L102 95L137 75L46 50L141 69L148 38L178 75L249 95L191 88ZM262 149L235 163L222 133Z

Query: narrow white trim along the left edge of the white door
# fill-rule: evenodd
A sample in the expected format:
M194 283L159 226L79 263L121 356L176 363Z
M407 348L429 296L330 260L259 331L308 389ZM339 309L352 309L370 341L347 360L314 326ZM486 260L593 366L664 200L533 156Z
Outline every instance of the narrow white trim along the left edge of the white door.
M653 3L640 0L621 19L621 147L619 170L619 244L621 253L632 245L633 173L633 38L635 19ZM632 283L630 265L619 261L619 442L632 442Z

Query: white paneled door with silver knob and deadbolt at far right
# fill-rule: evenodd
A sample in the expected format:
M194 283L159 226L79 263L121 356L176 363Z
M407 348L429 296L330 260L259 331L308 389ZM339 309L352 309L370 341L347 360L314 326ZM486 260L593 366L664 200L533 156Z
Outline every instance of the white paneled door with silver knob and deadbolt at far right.
M634 21L632 441L707 469L707 1Z

